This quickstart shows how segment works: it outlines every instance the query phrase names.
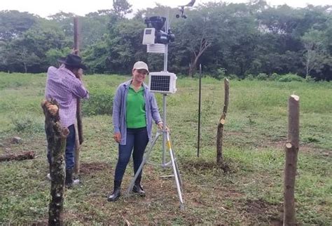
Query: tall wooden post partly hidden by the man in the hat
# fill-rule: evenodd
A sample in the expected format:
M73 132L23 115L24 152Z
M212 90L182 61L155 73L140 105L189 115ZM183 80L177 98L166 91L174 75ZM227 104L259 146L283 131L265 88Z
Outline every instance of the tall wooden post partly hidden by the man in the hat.
M76 55L79 54L79 29L78 29L78 18L74 18L74 52ZM77 124L75 125L76 141L75 141L75 154L74 154L74 173L78 174L80 171L80 150L81 144L83 143L83 124L82 124L82 103L80 98L77 98L76 105L76 118Z

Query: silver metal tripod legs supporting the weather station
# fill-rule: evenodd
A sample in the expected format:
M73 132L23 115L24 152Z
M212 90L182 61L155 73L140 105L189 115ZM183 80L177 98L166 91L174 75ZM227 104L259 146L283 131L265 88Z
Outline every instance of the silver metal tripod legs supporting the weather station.
M127 192L126 192L126 196L129 196L130 193L132 192L132 188L134 187L135 180L137 179L139 173L141 172L144 164L146 164L146 161L148 161L148 157L150 157L150 154L152 152L153 146L155 145L155 142L158 140L158 138L162 134L165 134L167 149L170 151L170 157L171 157L170 163L172 164L175 184L177 185L177 194L178 194L179 201L180 201L180 209L182 210L182 209L184 209L184 200L182 199L182 193L181 193L182 192L181 175L179 173L179 167L178 167L177 161L174 157L174 152L172 150L172 145L171 145L171 141L170 141L170 133L165 128L162 129L162 131L158 130L157 134L155 135L155 138L153 138L152 142L150 142L148 150L146 151L146 154L144 155L143 161L141 162L141 165L139 166L136 174L134 175L134 178L132 178L132 181L130 182L130 185L129 185L129 187L127 189Z

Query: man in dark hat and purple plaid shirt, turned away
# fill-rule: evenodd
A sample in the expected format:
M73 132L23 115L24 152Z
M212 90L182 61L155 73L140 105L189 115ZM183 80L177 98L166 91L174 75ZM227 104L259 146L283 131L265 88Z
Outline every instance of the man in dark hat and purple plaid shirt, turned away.
M65 159L66 159L66 187L77 184L79 180L73 181L74 170L74 148L76 104L78 98L89 98L89 93L82 83L82 69L86 69L78 55L69 54L67 58L58 60L59 68L49 67L46 81L46 100L55 99L59 103L60 123L69 129L67 137ZM48 150L48 163L51 163L51 153ZM50 175L48 175L50 178Z

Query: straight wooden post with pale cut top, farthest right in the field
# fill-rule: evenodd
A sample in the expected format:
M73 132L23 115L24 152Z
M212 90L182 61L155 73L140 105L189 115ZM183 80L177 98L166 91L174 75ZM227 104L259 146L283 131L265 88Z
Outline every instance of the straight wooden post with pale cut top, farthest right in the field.
M291 95L288 102L288 138L285 145L286 164L284 168L284 225L296 225L294 192L299 144L299 100L297 95Z

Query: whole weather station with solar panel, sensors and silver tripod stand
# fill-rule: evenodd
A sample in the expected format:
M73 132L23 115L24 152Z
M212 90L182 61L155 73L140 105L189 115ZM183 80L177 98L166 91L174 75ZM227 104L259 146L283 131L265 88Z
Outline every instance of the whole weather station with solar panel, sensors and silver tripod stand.
M180 14L176 15L176 18L186 19L184 15L184 8L193 6L195 0L192 0L189 4L184 6L179 6ZM151 16L144 20L146 28L144 29L142 44L146 45L147 53L160 53L164 55L164 65L163 69L160 72L150 72L148 79L148 88L153 93L162 94L162 121L164 127L162 130L158 130L155 137L149 143L148 149L144 154L143 161L139 166L137 173L132 178L129 187L127 188L127 196L132 192L132 187L134 187L134 182L137 179L141 169L143 168L148 157L153 150L155 142L158 140L160 135L162 135L162 168L172 165L173 175L162 176L162 177L174 177L175 184L177 185L177 194L180 201L180 209L184 209L184 199L182 198L182 180L179 173L179 166L177 165L176 158L174 157L174 152L172 150L172 145L170 142L170 133L167 129L166 121L166 97L169 94L174 94L177 91L176 81L177 75L167 71L167 58L168 58L168 45L175 40L174 34L172 34L170 29L170 23L167 18L161 16ZM170 152L170 161L166 162L165 150L166 147Z

